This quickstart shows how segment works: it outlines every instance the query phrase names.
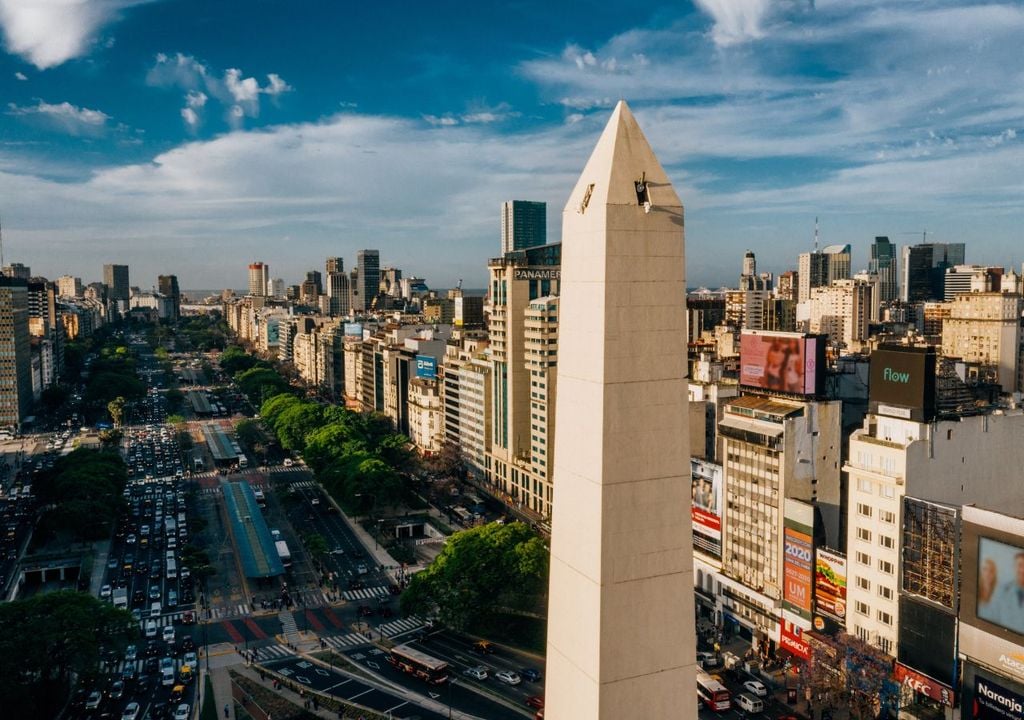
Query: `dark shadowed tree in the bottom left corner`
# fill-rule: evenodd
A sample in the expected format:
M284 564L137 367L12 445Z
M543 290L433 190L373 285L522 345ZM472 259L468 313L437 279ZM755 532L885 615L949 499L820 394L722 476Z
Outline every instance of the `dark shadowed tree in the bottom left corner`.
M123 651L137 637L129 612L87 593L62 590L0 604L4 717L56 717L72 678L95 674L102 644Z

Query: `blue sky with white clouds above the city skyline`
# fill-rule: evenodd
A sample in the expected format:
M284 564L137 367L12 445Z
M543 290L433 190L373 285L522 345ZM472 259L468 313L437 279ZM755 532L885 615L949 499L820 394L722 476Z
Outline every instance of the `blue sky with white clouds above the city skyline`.
M359 248L485 284L507 199L549 238L628 99L686 206L690 285L796 265L814 218L1024 261L1024 4L0 0L6 261L297 283Z

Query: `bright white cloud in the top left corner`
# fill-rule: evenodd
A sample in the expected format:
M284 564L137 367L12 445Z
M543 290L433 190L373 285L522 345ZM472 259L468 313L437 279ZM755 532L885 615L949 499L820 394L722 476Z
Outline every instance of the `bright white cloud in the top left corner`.
M0 0L7 50L39 70L86 54L100 29L147 0Z

